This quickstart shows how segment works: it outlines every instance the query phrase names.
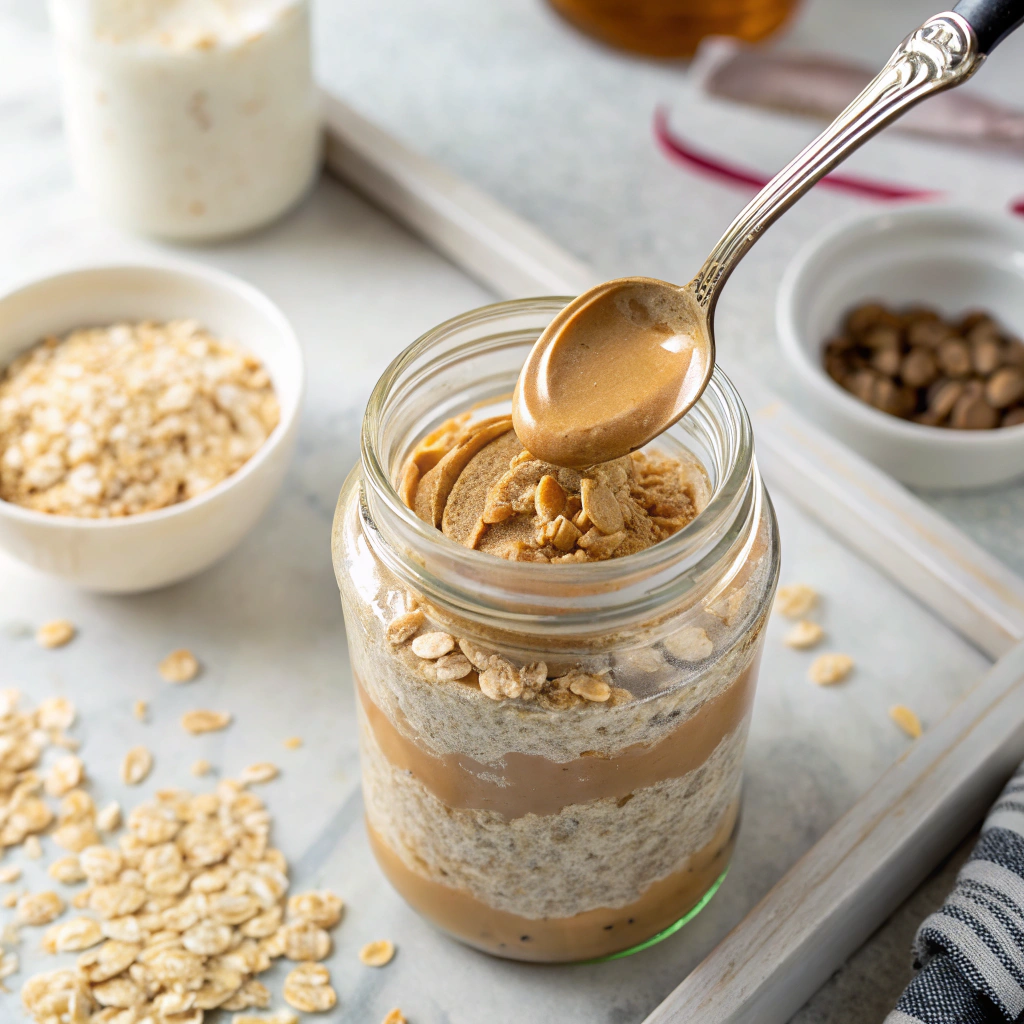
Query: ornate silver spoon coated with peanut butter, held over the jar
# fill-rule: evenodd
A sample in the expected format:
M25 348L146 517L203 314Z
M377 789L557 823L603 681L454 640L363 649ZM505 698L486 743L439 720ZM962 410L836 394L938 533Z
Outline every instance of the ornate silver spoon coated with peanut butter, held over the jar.
M930 17L849 106L746 204L685 286L621 278L570 302L519 374L512 420L538 458L582 468L672 426L715 369L715 306L761 233L820 177L922 99L966 82L1024 20L1024 0L961 0Z

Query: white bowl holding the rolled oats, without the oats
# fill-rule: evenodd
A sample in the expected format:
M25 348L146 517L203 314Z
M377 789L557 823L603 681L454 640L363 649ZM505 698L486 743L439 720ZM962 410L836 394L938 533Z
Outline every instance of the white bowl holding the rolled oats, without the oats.
M188 501L117 519L48 515L0 501L0 547L102 593L184 580L227 554L273 497L295 443L302 351L284 313L251 285L185 263L90 266L0 296L0 368L44 335L118 321L194 318L257 355L281 421L238 472Z

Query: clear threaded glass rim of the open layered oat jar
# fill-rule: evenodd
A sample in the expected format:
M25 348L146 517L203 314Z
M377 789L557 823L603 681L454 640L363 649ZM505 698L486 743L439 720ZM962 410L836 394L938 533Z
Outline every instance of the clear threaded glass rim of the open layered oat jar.
M558 565L555 570L557 577L554 577L551 566L547 564L507 561L460 545L424 522L406 505L380 451L391 403L396 396L400 397L399 384L432 349L439 349L444 341L465 329L498 324L523 313L550 313L553 316L570 301L569 296L512 299L451 317L425 332L391 361L367 403L360 433L360 456L366 481L365 501L374 527L382 534L383 547L377 551L378 556L404 577L410 586L460 613L476 612L477 617L497 615L506 626L513 622L541 626L547 622L548 625L559 624L566 630L574 631L585 624L595 625L596 612L599 612L602 625L609 617L630 611L649 613L651 608L666 601L674 603L674 598L678 599L691 590L695 580L706 577L708 570L719 564L726 552L735 547L737 537L741 532L745 536L740 527L743 522L750 521L756 511L755 506L760 506L760 477L754 463L750 418L734 385L719 367L715 368L708 388L694 409L702 407L707 414L715 403L720 412L724 412L725 426L732 438L727 450L727 462L719 467L711 498L700 513L676 534L643 551L623 558ZM380 521L384 518L387 519L386 525ZM409 550L402 551L402 548ZM430 568L435 558L451 565L452 575L463 574L472 582L472 586L464 590L458 585L453 586L451 578L438 579ZM450 577L449 572L444 574ZM483 587L481 591L481 574L501 577L500 595L494 588ZM682 578L688 578L684 586L681 586ZM538 585L541 581L545 585L557 581L557 590L563 596L583 597L598 593L603 595L603 599L600 602L583 601L582 608L579 602L572 602L575 612L560 611L557 606L542 609L538 606ZM461 590L463 592L460 593ZM516 595L522 600L516 601ZM597 604L600 604L599 608Z

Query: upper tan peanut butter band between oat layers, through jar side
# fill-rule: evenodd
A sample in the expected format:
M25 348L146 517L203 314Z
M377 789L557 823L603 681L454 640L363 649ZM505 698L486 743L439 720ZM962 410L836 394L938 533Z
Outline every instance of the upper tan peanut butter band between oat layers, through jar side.
M564 763L516 753L504 755L499 764L434 754L412 738L411 728L408 734L399 731L357 680L356 689L374 738L395 768L409 772L449 807L495 811L509 820L557 814L563 807L608 797L626 801L636 790L698 768L746 719L757 669L756 659L698 714L652 745L637 743L613 757L585 756Z

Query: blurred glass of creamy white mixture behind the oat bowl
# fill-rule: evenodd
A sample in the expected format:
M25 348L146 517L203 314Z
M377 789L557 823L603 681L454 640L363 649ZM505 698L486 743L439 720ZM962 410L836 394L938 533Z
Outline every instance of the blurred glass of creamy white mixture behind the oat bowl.
M181 241L264 224L319 164L308 0L49 0L80 184Z

